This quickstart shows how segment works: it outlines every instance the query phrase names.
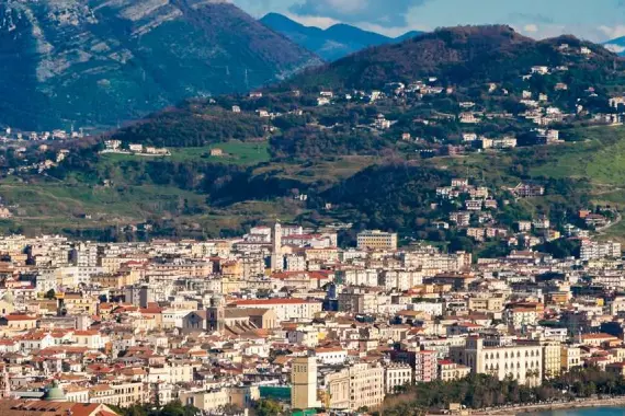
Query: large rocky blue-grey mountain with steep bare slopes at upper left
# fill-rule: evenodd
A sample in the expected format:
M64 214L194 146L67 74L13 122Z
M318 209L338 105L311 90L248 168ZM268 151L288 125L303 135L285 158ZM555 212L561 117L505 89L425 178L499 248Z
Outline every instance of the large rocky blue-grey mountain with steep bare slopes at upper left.
M320 60L225 0L1 0L0 124L112 126Z

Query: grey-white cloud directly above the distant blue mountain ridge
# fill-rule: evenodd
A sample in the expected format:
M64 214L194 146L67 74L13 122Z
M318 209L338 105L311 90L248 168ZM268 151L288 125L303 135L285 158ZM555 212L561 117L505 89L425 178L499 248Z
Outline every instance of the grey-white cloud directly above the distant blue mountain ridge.
M383 27L407 26L410 9L428 0L303 0L288 10L300 16L326 16L345 23L367 22Z

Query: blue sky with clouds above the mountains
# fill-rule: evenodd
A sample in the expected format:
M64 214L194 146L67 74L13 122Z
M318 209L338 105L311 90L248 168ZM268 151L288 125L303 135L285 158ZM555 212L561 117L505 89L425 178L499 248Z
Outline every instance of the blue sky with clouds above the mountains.
M504 23L535 38L605 42L625 36L625 0L232 0L254 16L279 12L310 26L334 23L398 36L459 24Z

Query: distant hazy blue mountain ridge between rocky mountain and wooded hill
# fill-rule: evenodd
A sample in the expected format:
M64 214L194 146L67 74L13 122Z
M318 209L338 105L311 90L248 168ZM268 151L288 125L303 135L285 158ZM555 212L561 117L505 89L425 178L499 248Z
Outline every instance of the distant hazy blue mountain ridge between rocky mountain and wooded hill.
M397 38L349 24L336 24L326 30L305 26L280 13L269 13L260 20L262 24L288 37L297 45L314 51L327 61L343 58L371 46L393 44L414 37L421 32L412 31Z

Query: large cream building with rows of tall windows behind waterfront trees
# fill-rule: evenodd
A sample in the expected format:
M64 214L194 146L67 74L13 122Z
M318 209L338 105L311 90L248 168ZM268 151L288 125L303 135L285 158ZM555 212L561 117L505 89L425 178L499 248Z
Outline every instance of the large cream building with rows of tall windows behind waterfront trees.
M484 338L468 337L466 348L451 350L453 361L468 366L473 373L499 380L512 377L520 384L538 385L543 379L543 348L539 345L486 347Z

